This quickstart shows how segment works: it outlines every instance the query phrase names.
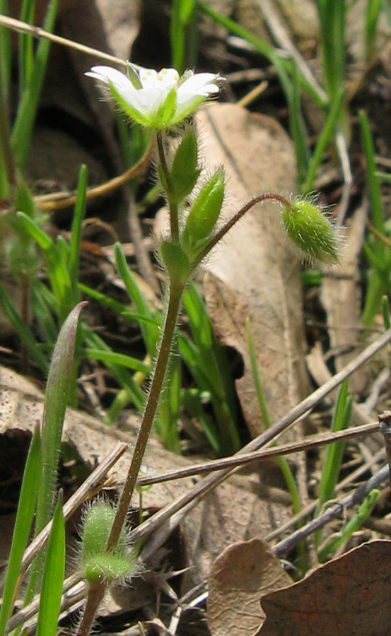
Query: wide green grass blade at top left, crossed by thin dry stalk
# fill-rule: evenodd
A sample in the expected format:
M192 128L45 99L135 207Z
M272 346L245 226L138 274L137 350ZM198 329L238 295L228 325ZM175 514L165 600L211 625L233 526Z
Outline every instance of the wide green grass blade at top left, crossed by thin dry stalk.
M47 14L43 28L45 31L52 33L54 22L57 16L59 0L50 0L47 8ZM42 38L37 47L35 54L34 66L30 75L28 86L23 90L21 101L19 102L18 112L16 114L15 123L11 136L13 148L13 157L20 170L23 170L25 162L28 158L28 148L30 146L30 138L33 132L35 115L37 112L40 92L49 57L50 41Z

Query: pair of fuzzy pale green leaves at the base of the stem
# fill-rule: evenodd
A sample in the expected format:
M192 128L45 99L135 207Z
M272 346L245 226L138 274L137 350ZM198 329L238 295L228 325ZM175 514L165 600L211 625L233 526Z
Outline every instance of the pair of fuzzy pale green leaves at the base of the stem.
M136 559L129 550L127 534L122 529L117 546L107 551L107 540L115 519L110 503L98 500L83 516L81 565L88 584L122 582L136 572Z

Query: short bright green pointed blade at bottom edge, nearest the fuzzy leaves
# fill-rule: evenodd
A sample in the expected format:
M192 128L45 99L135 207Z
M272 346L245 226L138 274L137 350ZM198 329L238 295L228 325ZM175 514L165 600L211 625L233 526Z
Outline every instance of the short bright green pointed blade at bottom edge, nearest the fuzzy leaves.
M37 636L56 636L64 574L65 522L62 514L62 492L60 492L54 509L52 529L47 542L40 608L37 619Z

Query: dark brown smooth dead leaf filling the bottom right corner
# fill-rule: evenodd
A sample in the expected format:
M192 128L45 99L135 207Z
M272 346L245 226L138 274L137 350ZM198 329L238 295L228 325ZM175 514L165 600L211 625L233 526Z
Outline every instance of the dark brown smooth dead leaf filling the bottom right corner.
M259 636L389 636L391 541L365 543L262 596Z

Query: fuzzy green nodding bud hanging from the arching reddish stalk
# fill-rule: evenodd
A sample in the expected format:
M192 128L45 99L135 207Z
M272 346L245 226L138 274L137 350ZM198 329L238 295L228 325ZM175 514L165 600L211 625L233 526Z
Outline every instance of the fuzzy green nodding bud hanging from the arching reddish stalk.
M281 216L288 236L305 258L325 264L339 262L337 232L313 201L296 197L284 207Z

